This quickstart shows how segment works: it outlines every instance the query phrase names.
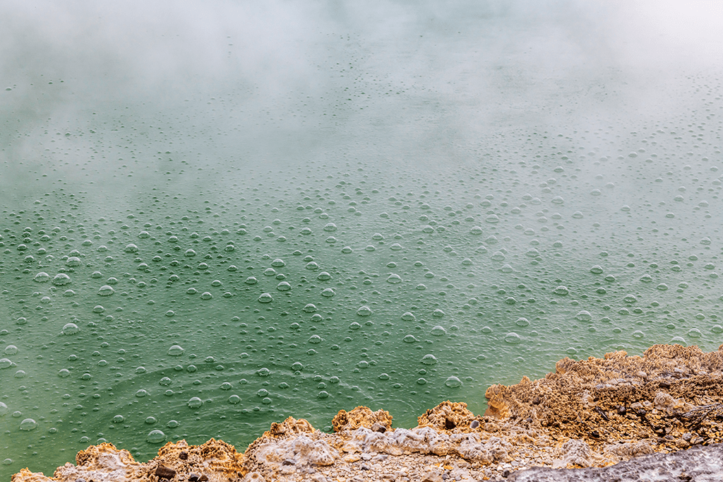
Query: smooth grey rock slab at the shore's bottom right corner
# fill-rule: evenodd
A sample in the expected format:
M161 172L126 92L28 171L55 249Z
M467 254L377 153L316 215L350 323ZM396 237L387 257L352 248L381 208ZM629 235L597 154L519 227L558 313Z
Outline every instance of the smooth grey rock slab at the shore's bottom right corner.
M644 455L605 468L533 468L513 473L510 482L654 482L723 480L723 444L693 447L673 454Z

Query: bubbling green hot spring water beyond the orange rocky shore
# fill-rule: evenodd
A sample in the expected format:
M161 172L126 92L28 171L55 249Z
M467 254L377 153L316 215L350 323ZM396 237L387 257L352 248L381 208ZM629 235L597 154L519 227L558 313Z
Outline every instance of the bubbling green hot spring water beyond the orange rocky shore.
M723 342L706 62L601 59L584 12L273 5L63 11L91 42L8 7L2 480Z

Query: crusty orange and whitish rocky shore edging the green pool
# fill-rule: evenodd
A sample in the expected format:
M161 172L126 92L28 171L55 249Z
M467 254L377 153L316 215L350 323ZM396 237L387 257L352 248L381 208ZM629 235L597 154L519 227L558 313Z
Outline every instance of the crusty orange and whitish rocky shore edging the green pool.
M484 415L442 402L414 428L356 407L335 416L333 434L304 419L273 423L243 453L178 441L136 462L100 444L52 478L24 469L12 482L721 480L722 349L565 358L544 379L490 386Z

